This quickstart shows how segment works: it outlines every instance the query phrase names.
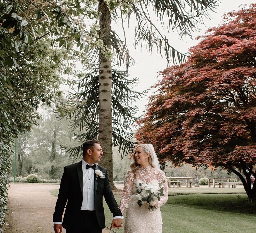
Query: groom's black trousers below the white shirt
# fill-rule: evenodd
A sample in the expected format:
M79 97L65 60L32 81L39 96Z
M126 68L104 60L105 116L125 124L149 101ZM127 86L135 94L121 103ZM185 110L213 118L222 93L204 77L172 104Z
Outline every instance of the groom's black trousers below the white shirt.
M81 210L79 216L72 228L66 229L66 233L101 233L96 212Z

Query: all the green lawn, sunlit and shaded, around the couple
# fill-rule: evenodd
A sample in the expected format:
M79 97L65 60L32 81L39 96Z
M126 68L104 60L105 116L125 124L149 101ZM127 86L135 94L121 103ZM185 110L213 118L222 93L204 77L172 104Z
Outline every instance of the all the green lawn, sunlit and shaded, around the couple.
M181 191L181 188L178 190ZM58 190L52 191L53 195L57 193ZM115 197L119 204L120 196ZM112 213L105 201L104 209L106 226L110 227ZM255 232L256 204L249 202L245 194L169 196L161 212L163 233ZM113 230L116 233L123 232L123 228Z

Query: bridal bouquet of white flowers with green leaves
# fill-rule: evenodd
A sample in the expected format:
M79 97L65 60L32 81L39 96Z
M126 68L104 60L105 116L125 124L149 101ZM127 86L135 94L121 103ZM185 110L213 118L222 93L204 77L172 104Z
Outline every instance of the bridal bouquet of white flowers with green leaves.
M160 201L160 197L164 196L163 183L158 183L156 180L144 183L142 180L136 180L135 188L136 193L132 195L132 198L138 200L138 205L141 207L143 203L149 203L148 209L150 211L155 210L155 204Z

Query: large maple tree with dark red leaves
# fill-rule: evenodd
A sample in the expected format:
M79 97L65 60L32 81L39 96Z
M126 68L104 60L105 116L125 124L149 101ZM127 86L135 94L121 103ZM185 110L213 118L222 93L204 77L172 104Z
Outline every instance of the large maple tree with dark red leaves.
M136 138L162 162L234 172L256 199L256 4L224 15L190 53L160 73Z

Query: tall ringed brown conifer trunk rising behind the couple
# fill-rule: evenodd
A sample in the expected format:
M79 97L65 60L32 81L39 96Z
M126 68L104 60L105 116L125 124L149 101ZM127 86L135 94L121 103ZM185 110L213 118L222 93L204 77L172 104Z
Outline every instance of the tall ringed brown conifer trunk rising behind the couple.
M111 15L105 1L99 1L98 12L101 13L99 19L99 36L107 48L111 48ZM112 159L112 68L111 60L107 59L100 51L99 59L99 136L104 155L100 165L108 171L112 189L116 189L113 183L113 159Z

